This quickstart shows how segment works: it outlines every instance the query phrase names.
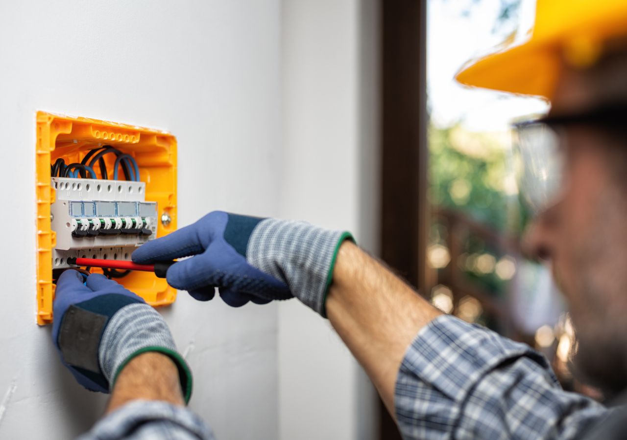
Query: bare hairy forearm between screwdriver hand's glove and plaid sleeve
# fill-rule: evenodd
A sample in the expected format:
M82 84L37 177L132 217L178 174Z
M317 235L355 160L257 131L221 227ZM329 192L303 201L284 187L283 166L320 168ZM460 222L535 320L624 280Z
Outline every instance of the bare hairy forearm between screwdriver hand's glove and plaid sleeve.
M338 253L326 310L394 416L394 385L404 353L441 312L348 241Z

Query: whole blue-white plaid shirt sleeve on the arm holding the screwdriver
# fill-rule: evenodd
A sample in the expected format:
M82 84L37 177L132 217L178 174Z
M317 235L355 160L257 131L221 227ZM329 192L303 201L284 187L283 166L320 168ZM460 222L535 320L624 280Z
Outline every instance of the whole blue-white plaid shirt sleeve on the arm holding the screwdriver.
M395 407L406 439L571 439L609 411L564 391L528 345L451 315L409 346Z

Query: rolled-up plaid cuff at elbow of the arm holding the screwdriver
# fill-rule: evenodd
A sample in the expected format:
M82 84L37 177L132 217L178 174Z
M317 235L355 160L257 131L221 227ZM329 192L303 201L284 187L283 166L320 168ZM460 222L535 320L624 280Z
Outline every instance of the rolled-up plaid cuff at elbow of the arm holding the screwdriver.
M541 354L529 345L492 330L441 315L418 332L396 379L396 419L411 425L416 417L442 427L455 426L461 404L485 374L503 362L526 356L552 374Z

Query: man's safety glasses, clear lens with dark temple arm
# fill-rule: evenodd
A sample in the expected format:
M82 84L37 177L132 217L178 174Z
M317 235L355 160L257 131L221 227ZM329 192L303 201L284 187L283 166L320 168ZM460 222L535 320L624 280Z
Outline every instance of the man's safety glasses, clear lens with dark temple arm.
M515 171L520 193L532 215L559 202L565 163L561 147L564 136L560 132L572 125L600 127L627 139L627 103L514 124Z

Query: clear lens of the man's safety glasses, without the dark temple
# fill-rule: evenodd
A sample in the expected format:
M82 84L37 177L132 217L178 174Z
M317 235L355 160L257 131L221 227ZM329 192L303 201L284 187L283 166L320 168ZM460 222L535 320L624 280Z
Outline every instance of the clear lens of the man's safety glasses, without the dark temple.
M514 126L514 157L519 190L533 215L557 202L562 187L564 158L557 133L545 123Z

